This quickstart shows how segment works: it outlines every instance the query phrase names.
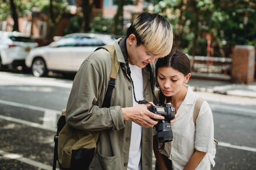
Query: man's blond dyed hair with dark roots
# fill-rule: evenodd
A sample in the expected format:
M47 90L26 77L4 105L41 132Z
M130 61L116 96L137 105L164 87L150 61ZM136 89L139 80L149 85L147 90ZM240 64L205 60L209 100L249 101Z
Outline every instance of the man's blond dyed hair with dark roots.
M173 30L169 21L159 14L141 13L127 30L127 37L135 34L137 45L144 45L153 55L164 57L173 46Z

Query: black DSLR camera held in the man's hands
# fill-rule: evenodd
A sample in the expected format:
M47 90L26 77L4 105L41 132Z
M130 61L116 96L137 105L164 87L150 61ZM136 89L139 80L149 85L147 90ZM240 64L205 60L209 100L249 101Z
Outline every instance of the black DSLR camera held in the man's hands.
M176 110L171 104L164 104L162 106L151 106L147 108L149 111L164 116L163 120L155 119L158 121L155 125L157 131L156 137L158 142L169 142L173 140L173 131L170 127L170 120L175 118Z

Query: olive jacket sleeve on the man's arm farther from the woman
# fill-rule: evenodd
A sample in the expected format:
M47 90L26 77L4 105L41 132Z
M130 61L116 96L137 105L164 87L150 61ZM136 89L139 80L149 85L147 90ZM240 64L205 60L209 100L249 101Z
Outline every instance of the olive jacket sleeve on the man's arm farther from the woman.
M86 131L124 128L121 106L99 107L104 99L111 70L111 66L107 65L86 60L80 66L67 104L66 121L70 126Z

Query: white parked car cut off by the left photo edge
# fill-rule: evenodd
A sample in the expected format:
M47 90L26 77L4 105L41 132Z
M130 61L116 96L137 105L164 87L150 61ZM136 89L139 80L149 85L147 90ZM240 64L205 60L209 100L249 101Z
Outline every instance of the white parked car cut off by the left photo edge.
M31 37L20 32L0 31L0 69L4 66L25 66L30 50L38 46Z

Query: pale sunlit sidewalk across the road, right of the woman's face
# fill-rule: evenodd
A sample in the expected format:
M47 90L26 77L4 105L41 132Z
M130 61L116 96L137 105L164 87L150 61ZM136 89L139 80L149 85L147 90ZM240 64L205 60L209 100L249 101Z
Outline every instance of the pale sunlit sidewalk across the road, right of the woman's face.
M234 84L229 80L207 80L203 77L199 79L192 75L187 84L195 91L256 98L256 81L251 84Z

